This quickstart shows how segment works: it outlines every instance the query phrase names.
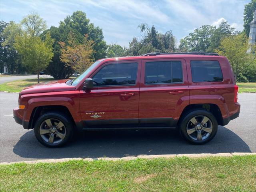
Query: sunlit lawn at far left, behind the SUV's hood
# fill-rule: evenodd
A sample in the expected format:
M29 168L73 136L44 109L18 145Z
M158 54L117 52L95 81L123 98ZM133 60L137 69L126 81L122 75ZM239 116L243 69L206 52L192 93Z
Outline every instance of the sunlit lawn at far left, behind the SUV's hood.
M40 83L46 81L52 81L53 78L40 78ZM27 86L31 86L37 84L37 79L26 79L26 80L16 80L12 82L7 82L0 84L0 91L8 91L8 92L20 92Z

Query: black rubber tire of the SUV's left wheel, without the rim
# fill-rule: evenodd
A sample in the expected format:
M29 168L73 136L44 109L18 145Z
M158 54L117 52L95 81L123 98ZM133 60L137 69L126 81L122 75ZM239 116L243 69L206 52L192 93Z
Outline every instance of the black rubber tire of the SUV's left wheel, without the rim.
M44 141L43 138L40 135L40 125L42 124L42 122L44 122L44 120L49 119L49 118L54 118L57 119L59 121L61 121L65 128L66 128L66 136L64 138L64 140L62 140L62 142L58 143L58 144L49 144L48 142ZM65 116L64 114L58 113L58 112L48 112L42 116L40 116L35 123L34 126L34 134L37 138L37 140L43 144L44 146L50 147L50 148L56 148L56 147L60 147L63 146L64 144L66 144L66 142L68 142L68 140L70 140L72 134L73 134L73 126L71 123L70 118L68 118L67 116Z

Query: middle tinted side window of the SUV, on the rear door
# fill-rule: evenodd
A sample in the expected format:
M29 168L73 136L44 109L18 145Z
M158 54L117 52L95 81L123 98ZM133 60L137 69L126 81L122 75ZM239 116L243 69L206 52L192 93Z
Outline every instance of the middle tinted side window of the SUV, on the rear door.
M180 61L146 62L145 84L182 82Z

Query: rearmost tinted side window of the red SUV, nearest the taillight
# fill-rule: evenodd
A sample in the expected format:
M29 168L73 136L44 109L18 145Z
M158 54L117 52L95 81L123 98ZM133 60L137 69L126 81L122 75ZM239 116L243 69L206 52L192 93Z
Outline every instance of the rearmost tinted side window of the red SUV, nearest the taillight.
M190 61L193 82L220 82L223 80L218 61Z

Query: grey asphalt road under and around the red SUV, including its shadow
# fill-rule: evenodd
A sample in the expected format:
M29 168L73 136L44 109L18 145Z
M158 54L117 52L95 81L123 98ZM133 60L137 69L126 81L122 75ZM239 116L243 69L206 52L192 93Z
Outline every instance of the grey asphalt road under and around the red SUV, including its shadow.
M256 94L239 94L240 117L219 126L215 138L202 146L185 142L174 130L84 132L62 148L42 146L34 130L16 124L12 108L18 94L0 92L0 162L48 158L124 157L142 154L256 152ZM7 116L6 116L7 115Z

